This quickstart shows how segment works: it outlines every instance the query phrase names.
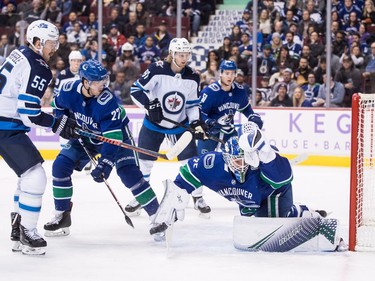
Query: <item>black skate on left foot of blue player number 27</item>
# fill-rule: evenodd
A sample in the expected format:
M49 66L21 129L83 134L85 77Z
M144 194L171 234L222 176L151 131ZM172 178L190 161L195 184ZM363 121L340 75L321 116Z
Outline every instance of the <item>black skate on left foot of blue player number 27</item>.
M70 234L69 226L72 225L70 212L72 210L73 203L70 203L70 209L61 213L56 214L50 222L44 225L46 230L44 235L46 237L60 237L68 236Z

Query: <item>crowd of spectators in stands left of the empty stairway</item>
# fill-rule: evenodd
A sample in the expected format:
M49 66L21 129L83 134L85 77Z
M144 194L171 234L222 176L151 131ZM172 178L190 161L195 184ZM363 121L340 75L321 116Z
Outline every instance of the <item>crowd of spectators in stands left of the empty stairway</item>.
M188 22L190 36L196 36L200 26L208 23L217 2L182 1L182 16L188 19L185 22ZM176 1L104 0L101 54L98 53L97 5L96 0L1 0L0 65L21 45L21 26L26 30L31 22L44 19L60 30L60 48L50 61L55 78L69 68L68 57L72 51L80 51L84 60L100 56L118 100L125 105L133 104L132 83L148 64L168 54L169 42L176 32L168 19L176 18ZM155 22L155 18L161 20ZM50 85L46 97L52 97L54 86L54 83ZM43 102L48 104L48 99Z

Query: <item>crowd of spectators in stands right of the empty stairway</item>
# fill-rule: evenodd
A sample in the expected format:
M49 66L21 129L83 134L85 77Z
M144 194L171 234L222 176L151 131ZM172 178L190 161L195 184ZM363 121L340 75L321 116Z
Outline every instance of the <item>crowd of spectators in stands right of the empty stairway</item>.
M249 89L252 49L256 44L254 106L325 107L329 95L329 106L350 107L354 93L375 91L373 0L332 0L332 25L328 31L326 1L258 1L256 40L252 38L252 1L244 8L242 19L233 23L223 45L210 52L218 54L219 62L234 60L240 69L240 80L244 76ZM332 77L326 77L327 32L332 42ZM215 73L209 61L210 57L209 73ZM203 78L202 85L209 84ZM249 90L249 95L252 92Z

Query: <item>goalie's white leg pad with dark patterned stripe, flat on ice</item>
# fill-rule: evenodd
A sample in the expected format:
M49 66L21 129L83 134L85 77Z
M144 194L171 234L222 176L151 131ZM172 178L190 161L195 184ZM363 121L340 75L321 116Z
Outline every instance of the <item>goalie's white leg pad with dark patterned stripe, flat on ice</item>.
M233 244L243 251L329 252L345 250L339 221L321 217L256 218L236 216Z

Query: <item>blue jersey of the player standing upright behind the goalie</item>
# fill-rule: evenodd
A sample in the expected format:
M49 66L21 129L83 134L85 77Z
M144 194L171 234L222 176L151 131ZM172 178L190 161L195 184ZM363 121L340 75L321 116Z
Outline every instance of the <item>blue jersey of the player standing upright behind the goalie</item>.
M233 117L236 111L246 117L254 113L245 88L236 82L230 91L224 91L220 81L208 85L200 93L200 107L202 119L215 119L224 133L234 130Z

